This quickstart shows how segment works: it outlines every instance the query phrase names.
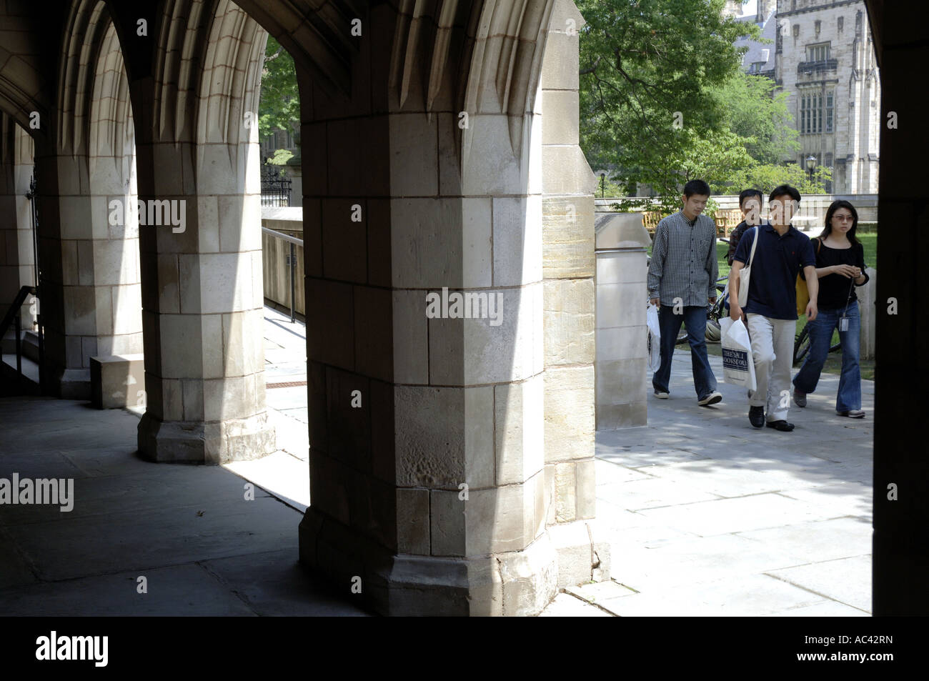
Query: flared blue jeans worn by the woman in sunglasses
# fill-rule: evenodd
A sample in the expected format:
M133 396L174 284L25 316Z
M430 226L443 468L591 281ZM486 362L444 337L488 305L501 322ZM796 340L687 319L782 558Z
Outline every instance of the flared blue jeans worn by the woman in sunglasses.
M810 330L810 350L804 365L793 377L793 387L798 392L811 393L816 390L819 373L822 372L832 332L839 326L839 318L845 308L820 309L814 321L806 322ZM852 301L846 313L848 331L839 332L842 342L842 377L839 378L839 394L835 398L836 412L851 412L861 409L861 369L858 366L858 353L861 345L861 315L857 300Z

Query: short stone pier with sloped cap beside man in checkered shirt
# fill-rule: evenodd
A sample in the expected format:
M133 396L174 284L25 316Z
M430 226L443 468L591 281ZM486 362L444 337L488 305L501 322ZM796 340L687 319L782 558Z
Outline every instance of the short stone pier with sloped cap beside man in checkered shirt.
M596 220L596 429L648 423L646 254L642 215Z

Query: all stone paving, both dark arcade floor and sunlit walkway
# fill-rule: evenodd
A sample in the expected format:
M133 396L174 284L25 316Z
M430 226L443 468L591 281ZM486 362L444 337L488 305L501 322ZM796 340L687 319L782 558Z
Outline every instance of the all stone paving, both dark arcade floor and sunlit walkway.
M288 315L265 317L279 451L257 461L149 464L130 455L131 413L0 399L0 477L75 478L80 500L70 513L0 506L0 612L364 614L297 565L306 386L275 385L306 381L306 341ZM698 407L689 353L675 353L671 399L649 400L649 425L597 434L613 580L559 594L543 616L867 616L873 384L862 421L834 415L837 384L823 374L809 406L792 407L792 433L756 431L739 387L720 383L724 401Z

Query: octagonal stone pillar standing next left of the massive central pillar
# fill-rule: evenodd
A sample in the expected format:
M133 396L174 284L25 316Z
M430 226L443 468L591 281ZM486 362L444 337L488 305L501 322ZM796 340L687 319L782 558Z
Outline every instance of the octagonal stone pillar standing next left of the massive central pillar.
M187 32L163 36L182 44L160 47L167 59L206 42L188 80L137 84L137 101L150 107L136 108L138 193L148 207L139 226L147 411L138 449L153 461L219 464L275 448L265 407L260 154L246 115L257 111L267 33L228 1L195 19ZM162 108L155 91L172 103ZM196 102L181 106L182 96Z

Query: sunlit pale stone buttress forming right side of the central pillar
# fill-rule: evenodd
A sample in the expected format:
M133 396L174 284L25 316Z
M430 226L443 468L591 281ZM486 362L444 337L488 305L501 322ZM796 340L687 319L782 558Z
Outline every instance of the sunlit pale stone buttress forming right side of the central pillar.
M593 522L596 178L578 138L583 24L572 2L556 0L540 84L545 522L556 545L560 587L609 575L609 547L597 541Z

